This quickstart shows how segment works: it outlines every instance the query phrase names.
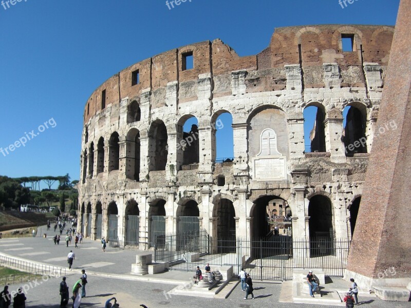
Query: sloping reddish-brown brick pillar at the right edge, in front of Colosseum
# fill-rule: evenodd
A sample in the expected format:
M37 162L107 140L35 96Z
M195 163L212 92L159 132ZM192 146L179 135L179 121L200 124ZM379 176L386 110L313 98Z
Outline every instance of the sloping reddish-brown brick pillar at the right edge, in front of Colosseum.
M411 283L410 15L411 1L401 0L377 121L377 126L395 121L397 129L386 130L373 141L345 274L360 288L375 288L377 296L392 300L398 299L379 286L402 286L405 292ZM392 268L395 275L387 274ZM405 301L409 290L410 284Z

